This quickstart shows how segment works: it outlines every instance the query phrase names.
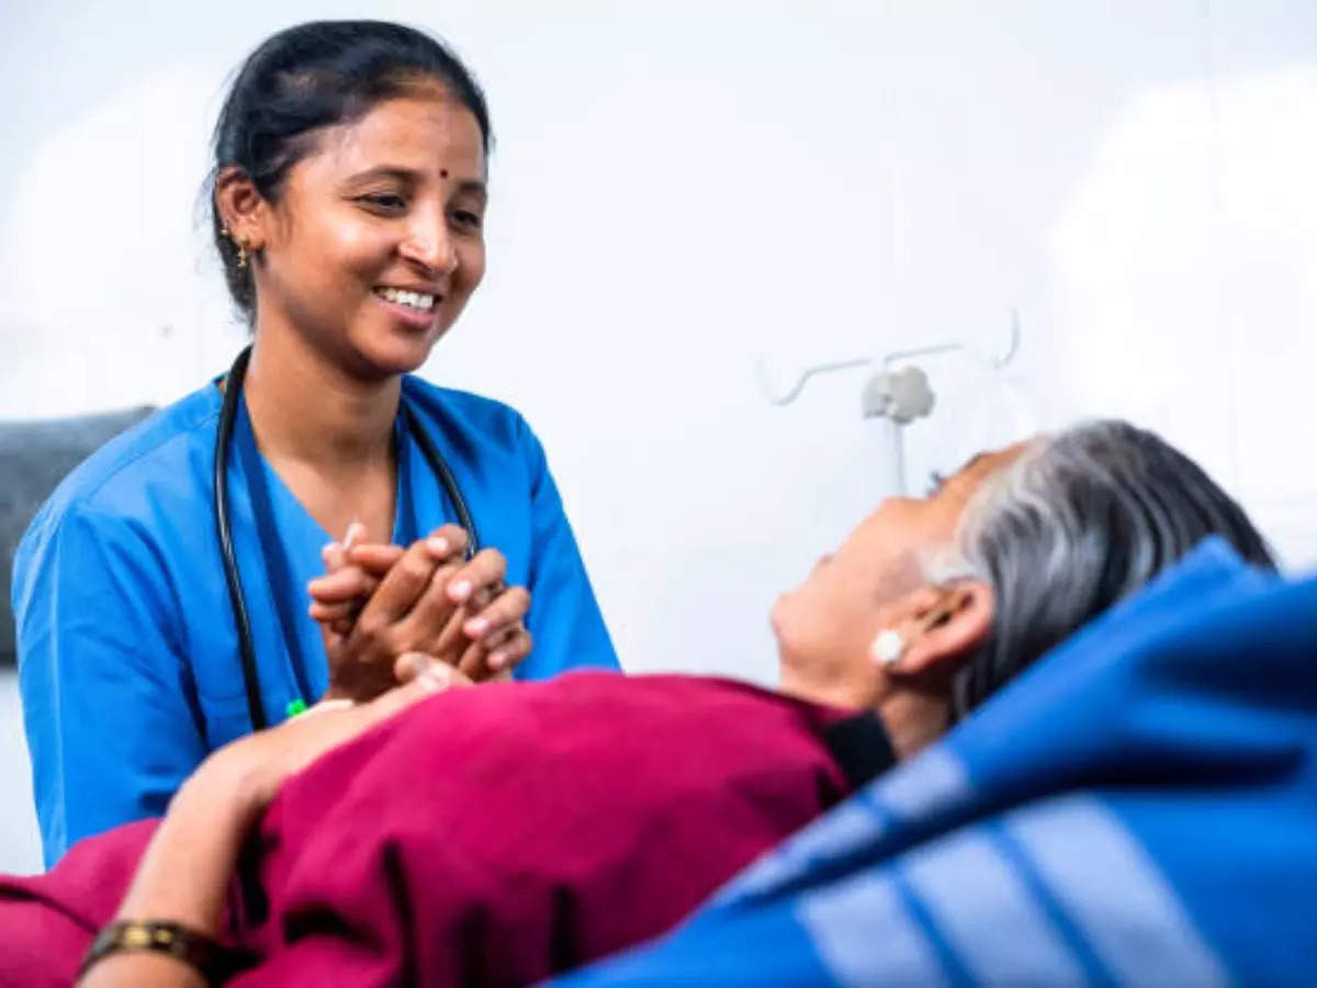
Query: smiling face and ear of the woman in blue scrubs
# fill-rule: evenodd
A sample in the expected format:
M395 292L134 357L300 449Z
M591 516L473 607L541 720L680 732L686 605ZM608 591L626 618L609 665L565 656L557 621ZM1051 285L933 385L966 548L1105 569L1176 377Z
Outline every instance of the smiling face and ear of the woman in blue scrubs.
M446 87L404 76L358 119L319 128L319 153L274 190L224 166L219 238L254 258L234 274L263 288L266 337L332 350L356 375L420 364L485 274L485 142Z

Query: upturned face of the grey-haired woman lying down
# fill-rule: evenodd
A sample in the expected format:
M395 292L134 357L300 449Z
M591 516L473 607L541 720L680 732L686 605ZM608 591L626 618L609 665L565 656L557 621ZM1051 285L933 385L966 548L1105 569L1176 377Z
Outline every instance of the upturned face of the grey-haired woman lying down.
M868 653L882 607L921 586L921 555L946 548L975 491L1022 447L980 453L923 498L888 498L805 582L778 598L782 661L851 661Z

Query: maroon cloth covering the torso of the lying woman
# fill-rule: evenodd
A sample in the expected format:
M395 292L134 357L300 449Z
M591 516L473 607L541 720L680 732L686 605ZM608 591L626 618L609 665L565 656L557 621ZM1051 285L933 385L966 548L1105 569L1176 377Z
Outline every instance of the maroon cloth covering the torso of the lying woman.
M440 694L284 785L237 984L523 984L653 937L846 794L836 718L684 676ZM153 827L0 879L0 981L68 983Z

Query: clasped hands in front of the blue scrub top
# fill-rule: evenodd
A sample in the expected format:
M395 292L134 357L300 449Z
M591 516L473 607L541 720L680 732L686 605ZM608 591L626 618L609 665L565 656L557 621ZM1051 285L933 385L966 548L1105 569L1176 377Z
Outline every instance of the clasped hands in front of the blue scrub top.
M529 593L503 585L502 553L485 549L464 563L465 547L457 526L406 551L327 547L331 572L308 589L329 656L328 696L378 696L399 681L394 664L407 652L424 652L474 681L506 674L529 653Z

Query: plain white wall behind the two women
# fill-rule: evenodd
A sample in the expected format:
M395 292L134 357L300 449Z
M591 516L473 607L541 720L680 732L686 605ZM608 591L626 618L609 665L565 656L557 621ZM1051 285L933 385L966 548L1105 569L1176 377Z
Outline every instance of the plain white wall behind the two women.
M3 14L0 416L165 402L225 366L242 335L194 221L224 78L273 29L362 9ZM861 374L773 408L756 358L786 379L993 350L1013 307L1010 382L927 365L914 486L981 443L1122 415L1317 561L1306 0L369 11L446 34L487 87L490 275L427 373L541 433L628 668L770 678L773 595L894 485Z

